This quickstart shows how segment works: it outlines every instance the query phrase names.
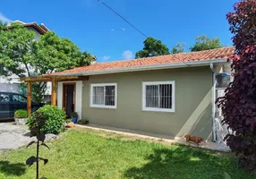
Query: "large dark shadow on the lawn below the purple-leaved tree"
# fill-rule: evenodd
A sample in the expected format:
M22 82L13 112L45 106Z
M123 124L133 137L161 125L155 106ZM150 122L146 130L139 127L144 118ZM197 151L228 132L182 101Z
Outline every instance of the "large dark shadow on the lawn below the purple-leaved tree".
M129 168L124 176L133 179L219 179L235 170L232 164L231 167L226 166L230 161L227 158L219 158L208 150L192 148L155 149L146 160L148 162L144 166Z

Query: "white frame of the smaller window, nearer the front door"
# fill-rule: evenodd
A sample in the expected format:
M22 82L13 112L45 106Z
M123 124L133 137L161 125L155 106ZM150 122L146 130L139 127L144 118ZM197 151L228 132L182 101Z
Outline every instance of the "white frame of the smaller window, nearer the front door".
M115 106L93 104L93 88L94 87L104 87L104 90L105 90L106 86L115 86ZM104 100L105 100L105 98L104 98ZM90 107L116 109L116 107L117 107L117 83L91 83L90 84Z

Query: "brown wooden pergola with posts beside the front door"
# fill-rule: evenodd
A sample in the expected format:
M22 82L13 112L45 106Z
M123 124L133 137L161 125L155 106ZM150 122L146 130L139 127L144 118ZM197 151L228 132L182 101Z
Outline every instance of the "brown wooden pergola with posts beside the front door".
M52 82L51 104L56 106L56 83L59 81L88 81L88 76L42 75L37 77L24 77L21 81L27 82L27 110L31 115L31 84L33 82Z

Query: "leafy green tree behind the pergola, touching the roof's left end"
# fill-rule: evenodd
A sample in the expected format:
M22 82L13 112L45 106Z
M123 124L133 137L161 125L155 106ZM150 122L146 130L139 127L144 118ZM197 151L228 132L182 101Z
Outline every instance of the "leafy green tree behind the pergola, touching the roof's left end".
M89 53L81 53L77 47L68 38L59 38L55 32L47 32L41 36L34 46L35 58L33 65L37 75L62 72L81 65L88 65L92 60ZM37 90L35 97L37 101L41 101L47 90L46 82L38 82L34 84Z

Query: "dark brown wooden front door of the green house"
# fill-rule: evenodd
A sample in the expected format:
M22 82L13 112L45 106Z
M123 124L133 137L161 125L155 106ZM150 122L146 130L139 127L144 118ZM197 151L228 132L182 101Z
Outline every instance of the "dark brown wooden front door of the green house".
M63 108L70 117L75 112L75 83L64 83L63 95Z

